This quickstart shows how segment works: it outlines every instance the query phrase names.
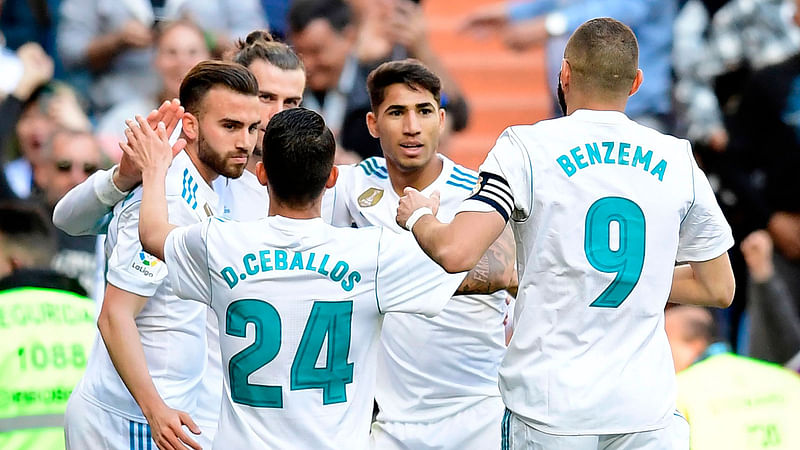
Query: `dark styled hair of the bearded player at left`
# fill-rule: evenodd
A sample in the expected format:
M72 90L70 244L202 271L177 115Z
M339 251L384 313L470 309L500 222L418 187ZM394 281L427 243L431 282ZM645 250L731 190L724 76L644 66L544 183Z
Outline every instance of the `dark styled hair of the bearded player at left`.
M186 112L198 115L208 91L217 86L244 95L258 95L255 76L241 64L226 61L200 61L181 82L179 97Z

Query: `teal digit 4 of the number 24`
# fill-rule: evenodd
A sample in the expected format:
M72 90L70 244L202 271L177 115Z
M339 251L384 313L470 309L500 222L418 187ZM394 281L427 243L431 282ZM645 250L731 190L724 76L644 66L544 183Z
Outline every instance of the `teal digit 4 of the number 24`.
M292 363L291 389L322 389L322 404L347 401L345 387L353 382L350 354L350 322L353 302L316 302L308 317L303 338ZM325 336L327 363L316 367Z

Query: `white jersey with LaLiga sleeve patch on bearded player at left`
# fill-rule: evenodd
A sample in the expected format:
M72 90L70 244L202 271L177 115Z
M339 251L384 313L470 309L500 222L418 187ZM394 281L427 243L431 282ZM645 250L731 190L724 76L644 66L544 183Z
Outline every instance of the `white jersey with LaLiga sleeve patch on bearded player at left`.
M197 223L213 214L217 195L203 180L189 156L181 152L166 178L169 221ZM142 250L139 242L141 187L114 207L108 227L108 282L148 297L136 316L147 367L158 393L172 408L194 414L198 386L206 365L206 308L175 296L163 261ZM139 406L123 384L102 338L97 337L80 390L101 408L144 422Z

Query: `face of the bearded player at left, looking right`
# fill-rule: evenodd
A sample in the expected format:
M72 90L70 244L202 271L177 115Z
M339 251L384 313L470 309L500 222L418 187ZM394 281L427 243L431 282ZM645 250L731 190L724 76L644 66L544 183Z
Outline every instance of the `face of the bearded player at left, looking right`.
M197 116L184 116L184 133L197 141L198 158L206 166L198 168L206 181L217 174L242 176L258 138L260 117L258 97L223 86L208 91Z

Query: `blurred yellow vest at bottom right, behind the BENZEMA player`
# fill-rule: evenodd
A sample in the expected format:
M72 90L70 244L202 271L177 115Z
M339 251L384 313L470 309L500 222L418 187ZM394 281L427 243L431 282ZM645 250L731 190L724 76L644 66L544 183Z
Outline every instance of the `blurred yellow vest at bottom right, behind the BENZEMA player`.
M722 353L680 372L692 450L800 449L800 376Z

